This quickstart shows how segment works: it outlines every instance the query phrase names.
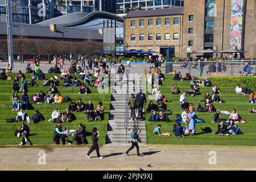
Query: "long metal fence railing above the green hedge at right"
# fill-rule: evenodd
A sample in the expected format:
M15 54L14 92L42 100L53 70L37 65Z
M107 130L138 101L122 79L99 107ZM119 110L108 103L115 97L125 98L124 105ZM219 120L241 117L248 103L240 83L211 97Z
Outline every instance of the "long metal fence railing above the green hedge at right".
M172 62L166 63L168 70L192 76L255 76L256 60Z

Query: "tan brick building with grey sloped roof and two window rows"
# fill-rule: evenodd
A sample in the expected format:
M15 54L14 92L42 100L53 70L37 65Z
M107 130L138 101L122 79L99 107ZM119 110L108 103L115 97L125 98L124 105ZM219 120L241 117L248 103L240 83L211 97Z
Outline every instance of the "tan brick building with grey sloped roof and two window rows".
M124 18L126 50L140 49L166 54L168 46L182 55L183 7L130 11Z

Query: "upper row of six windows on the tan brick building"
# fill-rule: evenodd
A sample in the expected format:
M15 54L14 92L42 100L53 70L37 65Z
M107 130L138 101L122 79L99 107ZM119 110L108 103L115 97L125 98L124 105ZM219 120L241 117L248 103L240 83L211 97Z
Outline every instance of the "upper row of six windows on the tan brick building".
M131 20L131 27L135 27L135 19ZM147 20L147 26L153 26L154 19L150 18ZM161 26L162 19L156 18L156 26ZM168 26L171 24L170 18L164 18L164 25ZM174 25L179 25L179 18L174 18ZM139 26L144 27L144 19L139 20Z

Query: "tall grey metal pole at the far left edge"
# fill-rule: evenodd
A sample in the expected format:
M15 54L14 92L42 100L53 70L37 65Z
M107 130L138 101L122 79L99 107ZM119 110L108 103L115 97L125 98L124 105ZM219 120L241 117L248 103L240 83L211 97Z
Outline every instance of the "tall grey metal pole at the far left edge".
M13 63L13 16L11 14L11 1L6 0L7 39L8 39L8 63L14 68Z

